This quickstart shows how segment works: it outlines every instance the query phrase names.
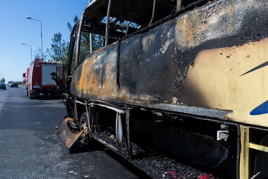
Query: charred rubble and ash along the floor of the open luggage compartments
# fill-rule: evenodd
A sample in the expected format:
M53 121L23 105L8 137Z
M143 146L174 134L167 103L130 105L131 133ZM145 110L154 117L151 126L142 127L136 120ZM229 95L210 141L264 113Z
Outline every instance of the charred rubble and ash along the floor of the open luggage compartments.
M117 148L120 152L127 155L126 139L123 138L123 147L118 147L116 139L108 131L94 131L92 135L107 144ZM155 178L195 178L195 179L214 179L211 174L181 164L164 155L151 155L152 151L140 148L137 144L131 143L133 150L133 163L142 168L143 171ZM144 157L141 157L144 156Z

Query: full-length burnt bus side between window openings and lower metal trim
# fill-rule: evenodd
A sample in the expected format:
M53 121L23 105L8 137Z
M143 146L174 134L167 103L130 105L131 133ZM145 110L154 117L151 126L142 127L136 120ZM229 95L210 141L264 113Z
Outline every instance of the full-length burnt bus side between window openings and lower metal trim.
M267 72L250 78L261 79L258 95L252 87L243 90L249 81L239 77L267 61L267 16L266 1L207 3L88 55L74 73L71 93L147 107L233 111L225 119L267 127L267 114L258 121L249 114L250 103L261 104L268 95L261 83ZM250 98L238 100L242 96Z

